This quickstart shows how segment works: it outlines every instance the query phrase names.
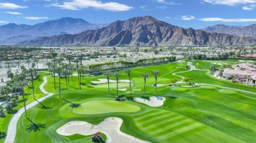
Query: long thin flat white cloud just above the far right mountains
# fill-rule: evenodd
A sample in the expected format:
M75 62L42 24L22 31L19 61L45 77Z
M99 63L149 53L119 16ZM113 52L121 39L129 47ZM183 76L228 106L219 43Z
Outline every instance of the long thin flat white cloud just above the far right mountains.
M202 18L203 22L256 22L256 18L235 18L235 19L225 19L225 18Z

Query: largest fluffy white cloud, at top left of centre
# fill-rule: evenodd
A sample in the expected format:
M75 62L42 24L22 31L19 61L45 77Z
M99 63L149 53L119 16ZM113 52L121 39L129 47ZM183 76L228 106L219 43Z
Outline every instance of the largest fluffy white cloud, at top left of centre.
M103 9L103 10L109 10L109 11L115 11L115 12L127 11L133 8L127 5L114 3L114 2L102 3L102 1L98 1L98 0L72 0L72 1L66 1L62 5L58 3L53 3L51 6L60 7L63 9L69 9L69 10L80 10L83 8L92 7L96 9Z

